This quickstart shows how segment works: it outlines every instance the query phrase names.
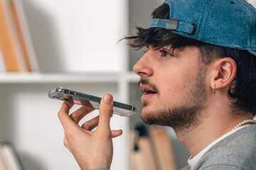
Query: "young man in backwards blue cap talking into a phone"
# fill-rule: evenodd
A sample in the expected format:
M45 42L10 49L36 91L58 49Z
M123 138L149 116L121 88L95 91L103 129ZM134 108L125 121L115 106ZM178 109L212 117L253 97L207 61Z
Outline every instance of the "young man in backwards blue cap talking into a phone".
M191 158L184 169L256 169L256 10L243 0L166 0L149 28L126 38L147 47L134 65L143 91L142 120L174 128ZM80 127L90 111L58 116L65 147L81 169L110 169L112 96L100 117ZM96 128L95 132L91 132Z

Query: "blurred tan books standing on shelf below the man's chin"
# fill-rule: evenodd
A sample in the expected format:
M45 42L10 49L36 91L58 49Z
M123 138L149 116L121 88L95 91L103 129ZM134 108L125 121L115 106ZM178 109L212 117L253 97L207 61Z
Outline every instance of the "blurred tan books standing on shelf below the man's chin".
M131 170L175 170L171 140L165 128L139 125L131 132Z

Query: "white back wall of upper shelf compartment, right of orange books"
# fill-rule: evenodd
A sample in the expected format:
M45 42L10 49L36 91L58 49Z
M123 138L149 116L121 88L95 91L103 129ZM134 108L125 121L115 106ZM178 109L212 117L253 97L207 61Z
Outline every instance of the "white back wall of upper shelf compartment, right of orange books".
M127 0L22 1L41 72L122 70Z

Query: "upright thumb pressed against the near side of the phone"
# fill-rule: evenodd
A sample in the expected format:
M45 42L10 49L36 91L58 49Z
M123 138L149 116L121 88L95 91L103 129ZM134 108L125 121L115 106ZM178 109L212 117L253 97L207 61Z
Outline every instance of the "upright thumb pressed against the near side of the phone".
M100 101L100 118L98 128L102 128L102 130L110 130L110 118L112 117L112 111L113 97L111 94L105 94Z

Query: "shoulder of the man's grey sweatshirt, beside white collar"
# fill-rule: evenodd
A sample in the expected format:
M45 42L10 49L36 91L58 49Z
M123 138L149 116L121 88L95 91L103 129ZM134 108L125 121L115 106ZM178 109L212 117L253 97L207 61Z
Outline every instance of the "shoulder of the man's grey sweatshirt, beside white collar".
M196 169L256 169L256 125L242 128L211 147Z

